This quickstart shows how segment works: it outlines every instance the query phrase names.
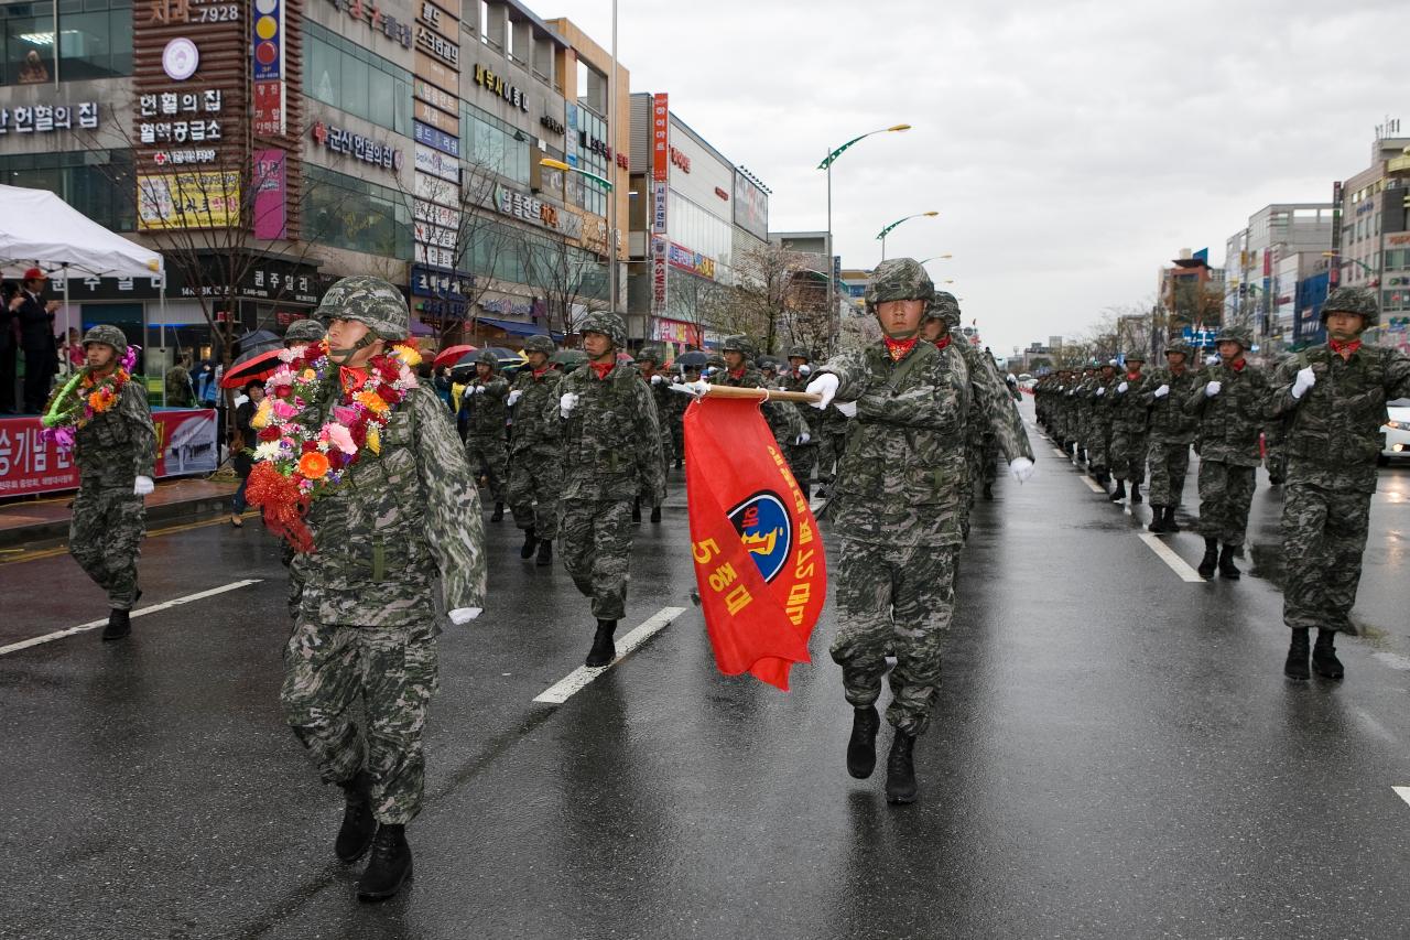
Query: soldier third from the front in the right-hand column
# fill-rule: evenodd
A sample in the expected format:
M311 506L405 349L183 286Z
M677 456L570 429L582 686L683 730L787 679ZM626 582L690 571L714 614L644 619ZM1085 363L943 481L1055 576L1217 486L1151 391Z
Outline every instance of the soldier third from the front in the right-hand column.
M1165 347L1166 367L1151 373L1142 392L1151 409L1151 525L1152 532L1179 532L1175 511L1184 493L1184 474L1190 469L1190 442L1196 421L1183 402L1194 394L1198 375L1189 367L1190 347L1172 339Z

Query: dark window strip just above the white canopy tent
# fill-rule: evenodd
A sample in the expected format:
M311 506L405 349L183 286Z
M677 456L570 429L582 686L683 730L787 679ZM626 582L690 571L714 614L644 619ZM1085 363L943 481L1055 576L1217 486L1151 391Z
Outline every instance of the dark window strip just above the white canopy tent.
M0 157L0 182L48 189L113 231L137 227L137 181L131 151L92 150L66 154Z

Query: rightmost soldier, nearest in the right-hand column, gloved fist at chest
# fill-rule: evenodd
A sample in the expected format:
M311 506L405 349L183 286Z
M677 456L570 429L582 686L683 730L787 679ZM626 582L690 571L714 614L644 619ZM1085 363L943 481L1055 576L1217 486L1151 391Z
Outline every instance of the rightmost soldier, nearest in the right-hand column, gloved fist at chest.
M1311 675L1313 627L1311 669L1325 679L1344 675L1334 641L1338 632L1356 632L1351 608L1361 583L1386 402L1410 398L1410 357L1361 342L1379 320L1371 291L1337 288L1321 316L1327 344L1289 358L1272 382L1272 416L1287 422L1283 622L1293 638L1283 672L1292 679Z

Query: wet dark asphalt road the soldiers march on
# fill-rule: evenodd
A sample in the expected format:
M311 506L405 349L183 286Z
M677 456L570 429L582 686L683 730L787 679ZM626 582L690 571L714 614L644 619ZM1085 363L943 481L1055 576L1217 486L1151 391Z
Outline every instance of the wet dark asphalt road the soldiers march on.
M911 807L846 775L830 608L792 692L715 672L678 486L623 629L687 613L560 707L533 697L581 663L587 604L489 525L491 605L441 638L416 876L381 906L333 862L338 793L281 720L275 543L151 538L144 604L261 580L124 644L0 655L0 936L1406 936L1410 470L1373 504L1348 679L1292 683L1266 478L1252 576L1190 584L1138 538L1145 507L1035 445L964 552ZM0 645L103 614L65 556L0 566Z

